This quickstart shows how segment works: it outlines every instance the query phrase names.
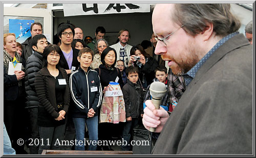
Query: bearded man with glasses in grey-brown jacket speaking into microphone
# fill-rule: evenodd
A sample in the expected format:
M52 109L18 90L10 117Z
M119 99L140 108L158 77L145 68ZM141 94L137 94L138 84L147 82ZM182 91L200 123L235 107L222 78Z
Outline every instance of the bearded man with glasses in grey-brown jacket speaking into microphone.
M253 51L230 4L157 4L152 24L155 54L187 86L170 116L146 100L152 153L252 154Z

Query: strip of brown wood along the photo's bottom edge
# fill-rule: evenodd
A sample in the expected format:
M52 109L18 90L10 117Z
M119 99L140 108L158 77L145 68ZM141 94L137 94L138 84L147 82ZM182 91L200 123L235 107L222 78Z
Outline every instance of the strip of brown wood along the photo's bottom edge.
M77 154L133 154L133 151L90 151L90 150L43 150L42 155L45 154L65 154L65 155L77 155Z

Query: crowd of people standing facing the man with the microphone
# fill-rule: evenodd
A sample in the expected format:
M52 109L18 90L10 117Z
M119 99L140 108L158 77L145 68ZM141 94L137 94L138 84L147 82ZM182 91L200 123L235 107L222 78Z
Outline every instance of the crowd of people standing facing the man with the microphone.
M140 44L127 44L131 35L126 29L120 30L114 45L104 39L103 27L96 29L92 39L83 38L82 30L73 24L61 23L55 36L59 40L53 40L53 44L42 30L41 23L32 23L31 37L22 44L16 42L13 33L4 35L5 77L13 77L13 81L5 82L4 122L16 154L26 154L26 143L16 143L20 138L27 140L30 154L41 154L44 149L113 150L109 145L54 145L57 139L83 140L88 135L89 140L95 141L131 141L132 129L139 120L142 122L146 89L148 97L149 85L161 80L155 74L157 68L166 69L159 64L160 56L155 56L153 49L148 54ZM151 41L156 45L154 34ZM23 66L10 75L8 66L14 57ZM167 76L167 69L163 71ZM167 85L166 81L163 82ZM121 89L124 85L130 87L123 91L126 122L98 123L101 102L110 82L118 83ZM168 111L171 103L165 100L162 106Z

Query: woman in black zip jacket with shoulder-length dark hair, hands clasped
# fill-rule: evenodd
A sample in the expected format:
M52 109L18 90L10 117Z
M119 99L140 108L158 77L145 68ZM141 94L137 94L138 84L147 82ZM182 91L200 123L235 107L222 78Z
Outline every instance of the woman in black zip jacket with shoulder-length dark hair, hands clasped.
M65 69L60 68L61 49L48 45L43 52L42 69L35 78L35 90L39 99L38 120L40 146L42 150L60 149L65 134L65 116L69 108L69 80Z

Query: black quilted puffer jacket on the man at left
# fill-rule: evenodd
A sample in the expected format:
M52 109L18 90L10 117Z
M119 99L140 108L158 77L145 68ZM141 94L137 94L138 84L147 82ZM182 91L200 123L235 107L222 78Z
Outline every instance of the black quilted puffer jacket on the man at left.
M25 71L25 89L27 93L26 108L38 107L39 101L35 91L35 76L42 68L42 54L34 51L26 63Z

